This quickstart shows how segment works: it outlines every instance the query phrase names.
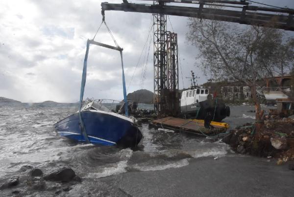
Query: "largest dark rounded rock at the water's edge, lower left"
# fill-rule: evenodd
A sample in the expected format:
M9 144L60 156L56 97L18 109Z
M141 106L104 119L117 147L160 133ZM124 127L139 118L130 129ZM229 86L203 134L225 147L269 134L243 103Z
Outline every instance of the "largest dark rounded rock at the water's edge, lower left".
M57 169L53 169L47 175L44 176L48 181L70 181L75 176L73 169L65 166L60 166Z

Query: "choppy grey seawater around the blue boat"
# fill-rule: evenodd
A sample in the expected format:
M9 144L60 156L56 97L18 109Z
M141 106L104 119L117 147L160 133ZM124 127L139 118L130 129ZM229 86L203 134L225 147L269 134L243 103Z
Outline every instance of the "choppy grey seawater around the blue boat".
M139 107L152 109L152 105ZM224 121L232 127L254 121L249 106L231 106ZM220 141L209 142L196 135L142 125L143 146L119 149L115 146L80 144L60 137L53 124L77 111L77 104L0 104L0 177L31 165L44 171L67 165L84 179L108 177L132 171L181 168L191 158L232 154Z

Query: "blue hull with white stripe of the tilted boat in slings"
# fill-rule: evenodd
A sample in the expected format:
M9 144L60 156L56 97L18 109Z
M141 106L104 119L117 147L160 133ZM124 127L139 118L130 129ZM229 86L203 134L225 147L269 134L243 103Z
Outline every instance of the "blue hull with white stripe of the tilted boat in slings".
M83 111L81 115L88 139L93 144L133 147L143 138L141 131L122 115L92 110ZM60 136L86 141L80 131L78 113L57 122L54 128Z

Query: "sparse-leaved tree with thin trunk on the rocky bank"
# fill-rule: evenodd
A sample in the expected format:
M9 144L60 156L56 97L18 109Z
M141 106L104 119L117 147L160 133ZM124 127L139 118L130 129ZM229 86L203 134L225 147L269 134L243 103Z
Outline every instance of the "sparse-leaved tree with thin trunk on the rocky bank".
M256 88L265 77L280 68L280 50L290 40L278 29L258 26L237 26L215 20L189 19L187 39L199 49L201 67L216 80L233 79L251 89L256 112L256 133L261 127L263 111ZM291 41L292 42L292 41ZM291 57L292 56L292 57ZM293 54L284 53L284 66Z

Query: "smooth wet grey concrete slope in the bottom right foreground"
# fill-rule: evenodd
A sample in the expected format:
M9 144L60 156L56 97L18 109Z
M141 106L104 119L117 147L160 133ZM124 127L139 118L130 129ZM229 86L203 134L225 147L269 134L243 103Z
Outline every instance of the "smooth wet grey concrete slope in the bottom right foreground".
M294 171L268 159L226 156L191 159L189 166L120 174L132 197L293 197Z

